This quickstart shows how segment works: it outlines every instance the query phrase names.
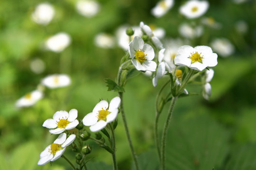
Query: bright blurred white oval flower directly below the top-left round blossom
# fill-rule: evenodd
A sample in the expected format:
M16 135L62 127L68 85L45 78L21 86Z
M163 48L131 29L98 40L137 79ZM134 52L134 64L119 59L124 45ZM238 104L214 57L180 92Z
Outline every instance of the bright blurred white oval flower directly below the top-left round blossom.
M71 38L69 34L66 33L58 33L50 38L48 38L45 42L46 49L54 52L61 52L67 46L69 46L71 42Z

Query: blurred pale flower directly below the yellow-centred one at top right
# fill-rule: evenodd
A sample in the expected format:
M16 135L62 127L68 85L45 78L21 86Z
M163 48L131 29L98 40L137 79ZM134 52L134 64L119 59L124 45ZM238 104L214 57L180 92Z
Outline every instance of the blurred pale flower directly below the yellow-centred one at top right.
M203 27L192 27L191 25L184 23L181 26L179 26L179 33L185 38L193 39L200 37L203 34Z

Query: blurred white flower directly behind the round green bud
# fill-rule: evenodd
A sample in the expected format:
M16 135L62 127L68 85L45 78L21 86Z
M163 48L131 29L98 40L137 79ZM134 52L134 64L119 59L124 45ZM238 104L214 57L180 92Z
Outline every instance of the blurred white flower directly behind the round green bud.
M118 39L118 45L119 47L121 47L122 49L124 49L125 51L128 50L129 47L129 36L126 34L126 30L127 28L129 28L129 26L119 26L119 28L116 31L116 36ZM133 40L133 38L135 36L141 36L141 30L139 26L132 26L133 30L134 30L134 34L131 36L131 40Z

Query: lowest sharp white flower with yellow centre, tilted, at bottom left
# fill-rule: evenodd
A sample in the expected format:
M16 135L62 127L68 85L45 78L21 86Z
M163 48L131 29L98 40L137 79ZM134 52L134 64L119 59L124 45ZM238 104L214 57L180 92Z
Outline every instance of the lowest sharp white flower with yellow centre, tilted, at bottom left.
M58 136L58 138L54 141L53 144L50 144L46 147L46 149L40 153L40 160L37 165L45 165L49 161L55 161L62 156L66 147L73 143L75 140L75 135L72 134L66 138L67 135L62 133Z

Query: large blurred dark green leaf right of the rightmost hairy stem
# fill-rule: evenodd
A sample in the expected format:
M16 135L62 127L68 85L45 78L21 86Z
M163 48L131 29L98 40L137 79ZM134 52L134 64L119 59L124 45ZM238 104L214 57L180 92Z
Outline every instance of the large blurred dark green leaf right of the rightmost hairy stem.
M228 153L228 132L209 116L173 120L167 134L166 170L212 170Z

